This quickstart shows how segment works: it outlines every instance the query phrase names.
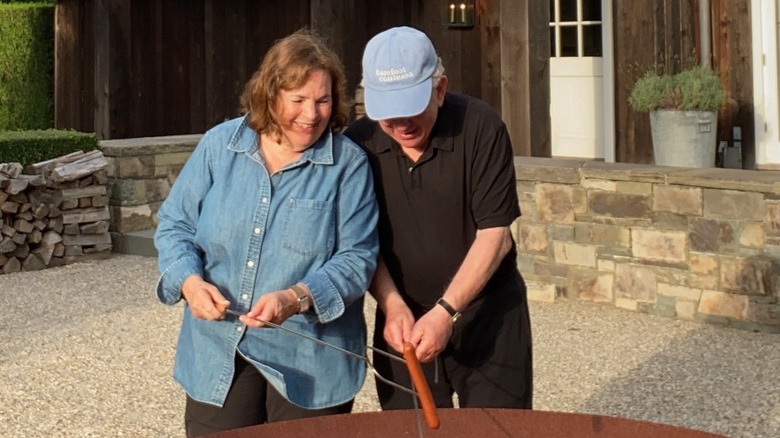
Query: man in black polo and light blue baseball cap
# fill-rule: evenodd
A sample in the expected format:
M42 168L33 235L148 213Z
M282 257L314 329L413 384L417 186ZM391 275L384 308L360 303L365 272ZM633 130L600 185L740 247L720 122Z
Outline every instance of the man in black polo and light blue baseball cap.
M374 346L415 346L438 407L531 408L531 327L510 225L520 216L512 145L486 103L447 92L428 37L379 33L363 54L362 145L380 205L379 267L370 292ZM374 356L410 385L403 363ZM377 382L383 409L413 399Z

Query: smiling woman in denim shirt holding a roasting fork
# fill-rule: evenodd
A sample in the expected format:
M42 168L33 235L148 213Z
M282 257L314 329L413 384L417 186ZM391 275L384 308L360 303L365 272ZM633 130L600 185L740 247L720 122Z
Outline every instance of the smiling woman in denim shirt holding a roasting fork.
M337 134L345 82L313 33L278 41L246 115L206 132L160 207L157 295L185 301L188 436L348 413L363 384L359 359L263 323L364 353L377 207L365 154Z

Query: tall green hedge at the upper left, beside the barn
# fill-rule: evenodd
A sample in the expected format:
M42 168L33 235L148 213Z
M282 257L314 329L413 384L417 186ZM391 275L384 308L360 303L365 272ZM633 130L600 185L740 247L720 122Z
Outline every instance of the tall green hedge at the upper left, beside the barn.
M0 4L0 131L54 126L54 5Z

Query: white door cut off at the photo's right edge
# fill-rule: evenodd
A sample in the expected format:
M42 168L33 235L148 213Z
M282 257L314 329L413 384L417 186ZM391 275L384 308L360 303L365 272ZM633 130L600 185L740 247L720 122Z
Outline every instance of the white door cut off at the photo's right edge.
M756 167L780 170L780 0L760 0L751 6Z

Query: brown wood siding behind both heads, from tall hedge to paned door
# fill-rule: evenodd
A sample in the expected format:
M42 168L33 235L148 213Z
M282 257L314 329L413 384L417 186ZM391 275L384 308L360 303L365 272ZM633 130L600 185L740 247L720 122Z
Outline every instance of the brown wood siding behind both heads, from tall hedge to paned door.
M498 111L509 102L518 155L549 156L547 2L477 0L468 29L443 26L440 8L425 0L60 0L55 123L103 139L203 132L238 114L265 51L304 26L333 44L352 91L366 41L410 25L430 35L451 90ZM541 21L517 24L527 17Z

